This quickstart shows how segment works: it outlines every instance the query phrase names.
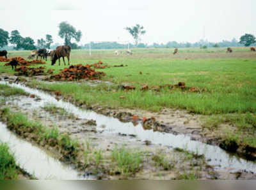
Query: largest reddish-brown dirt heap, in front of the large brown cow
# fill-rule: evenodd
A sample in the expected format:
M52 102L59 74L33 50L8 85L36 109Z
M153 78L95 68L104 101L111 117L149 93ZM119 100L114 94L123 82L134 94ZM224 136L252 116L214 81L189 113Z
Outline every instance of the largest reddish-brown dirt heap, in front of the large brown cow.
M71 65L69 68L64 68L58 75L52 75L50 80L80 80L84 78L89 78L90 80L97 80L105 76L106 73L95 71L90 65L82 64Z

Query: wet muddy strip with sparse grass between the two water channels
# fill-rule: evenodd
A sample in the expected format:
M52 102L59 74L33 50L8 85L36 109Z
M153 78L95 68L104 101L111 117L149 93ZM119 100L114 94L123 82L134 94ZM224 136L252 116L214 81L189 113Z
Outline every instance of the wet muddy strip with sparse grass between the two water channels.
M58 126L61 132L67 132L72 138L84 143L86 145L84 149L88 150L90 147L92 150L101 150L104 155L104 166L96 171L95 166L90 168L93 174L97 175L97 179L124 179L115 170L113 172L113 168L111 168L113 166L109 165L109 159L106 157L112 154L116 145L125 145L129 149L140 150L141 157L144 159L143 166L141 166L143 169L139 170L135 176L125 177L125 179L183 179L188 173L196 179L237 179L237 177L248 179L254 177L250 172L234 172L230 168L218 170L216 168L219 166L209 165L202 155L189 154L186 150L172 149L169 146L154 144L149 140L142 141L136 135L110 133L110 131L104 133L106 126L95 126L95 122L77 118L77 115L67 113L62 108L56 108L49 104L44 105L44 101L37 96L35 98L29 96L7 98L6 106L13 111L28 115L31 120L40 120L45 126ZM44 146L44 143L41 144ZM51 147L47 147L47 150L50 151L50 154L52 151L54 152ZM143 154L147 156L143 156ZM83 173L92 173L88 169L83 170Z

